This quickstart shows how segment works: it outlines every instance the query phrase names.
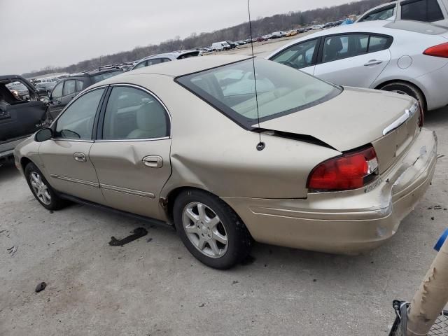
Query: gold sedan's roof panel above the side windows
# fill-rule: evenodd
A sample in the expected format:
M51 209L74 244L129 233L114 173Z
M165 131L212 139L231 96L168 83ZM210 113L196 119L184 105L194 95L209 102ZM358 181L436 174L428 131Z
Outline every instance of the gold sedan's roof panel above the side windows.
M146 66L137 70L128 71L118 76L113 76L106 80L102 80L99 85L93 85L92 87L115 83L124 83L131 80L132 76L134 75L163 75L178 77L188 75L189 73L213 69L226 64L232 64L235 62L243 61L244 59L251 59L251 57L242 55L211 55L204 57L189 57L186 59L179 59L179 61L176 62L165 62Z

